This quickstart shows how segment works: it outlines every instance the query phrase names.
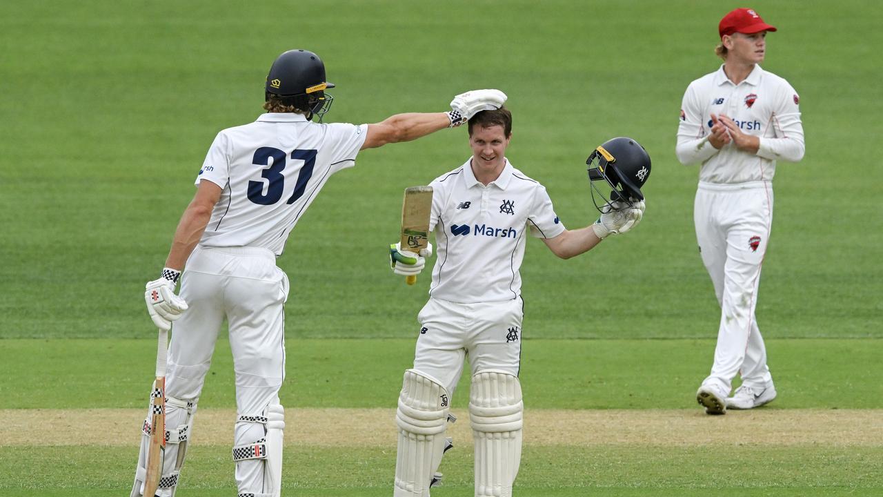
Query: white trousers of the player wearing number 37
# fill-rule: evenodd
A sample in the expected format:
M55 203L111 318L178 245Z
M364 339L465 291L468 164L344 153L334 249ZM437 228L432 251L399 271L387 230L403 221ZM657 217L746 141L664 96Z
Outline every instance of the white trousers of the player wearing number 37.
M283 304L288 290L288 277L267 248L193 250L181 279L181 296L190 307L172 327L166 394L185 401L198 399L226 318L238 413L260 416L268 403L277 403L285 378ZM233 445L263 436L261 424L237 423ZM239 493L261 493L262 464L237 463Z

